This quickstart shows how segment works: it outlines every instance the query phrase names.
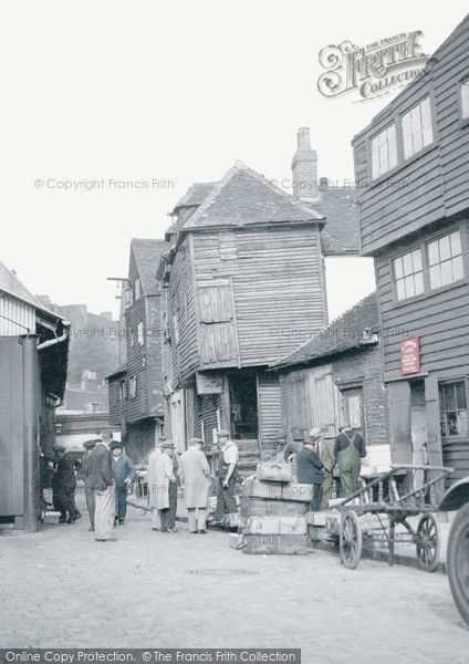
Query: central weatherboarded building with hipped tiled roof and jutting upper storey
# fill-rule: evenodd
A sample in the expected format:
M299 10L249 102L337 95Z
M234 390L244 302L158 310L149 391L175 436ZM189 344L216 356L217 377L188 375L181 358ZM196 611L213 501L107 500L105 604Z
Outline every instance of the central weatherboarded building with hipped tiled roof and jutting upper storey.
M294 176L311 165L309 143L300 129ZM326 220L315 172L309 180L313 191L301 200L237 162L220 181L192 185L173 212L158 278L166 291L167 412L183 448L192 435L211 443L223 426L248 467L259 446L274 445L280 385L268 367L299 345L299 335L327 324ZM332 232L330 253L353 252L356 231L351 225L346 239Z

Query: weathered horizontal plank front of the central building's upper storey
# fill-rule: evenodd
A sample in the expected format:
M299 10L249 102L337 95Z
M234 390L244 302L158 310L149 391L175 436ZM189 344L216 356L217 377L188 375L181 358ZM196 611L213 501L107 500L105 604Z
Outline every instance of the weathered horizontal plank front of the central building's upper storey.
M220 356L223 366L269 364L325 326L316 226L199 232L192 235L192 245L198 292L210 283L219 289L232 284L232 314L228 290L225 305L237 339L232 334L225 342L230 352ZM200 311L198 321L200 329Z

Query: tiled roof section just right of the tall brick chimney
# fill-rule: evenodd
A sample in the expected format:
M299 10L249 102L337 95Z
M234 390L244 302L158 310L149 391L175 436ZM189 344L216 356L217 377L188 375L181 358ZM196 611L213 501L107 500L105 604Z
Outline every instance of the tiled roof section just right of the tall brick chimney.
M324 256L357 255L359 251L359 225L353 187L331 187L320 193L320 201L310 204L326 218L321 231Z

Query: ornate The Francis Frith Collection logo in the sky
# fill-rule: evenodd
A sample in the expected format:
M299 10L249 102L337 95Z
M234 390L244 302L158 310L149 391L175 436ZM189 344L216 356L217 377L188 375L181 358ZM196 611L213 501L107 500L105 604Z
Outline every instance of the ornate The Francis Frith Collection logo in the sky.
M403 32L366 46L344 41L338 46L324 46L320 64L325 71L317 89L327 97L357 91L359 102L388 94L424 75L428 55L421 52L421 31Z

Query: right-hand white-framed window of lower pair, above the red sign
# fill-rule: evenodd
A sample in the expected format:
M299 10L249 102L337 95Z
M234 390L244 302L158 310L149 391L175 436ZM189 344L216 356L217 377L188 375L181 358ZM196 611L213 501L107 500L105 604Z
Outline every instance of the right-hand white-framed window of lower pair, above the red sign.
M440 288L463 279L461 235L459 230L428 243L430 288Z

